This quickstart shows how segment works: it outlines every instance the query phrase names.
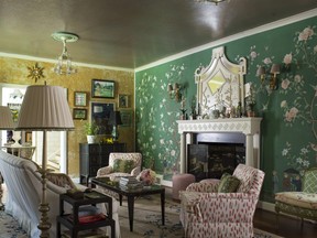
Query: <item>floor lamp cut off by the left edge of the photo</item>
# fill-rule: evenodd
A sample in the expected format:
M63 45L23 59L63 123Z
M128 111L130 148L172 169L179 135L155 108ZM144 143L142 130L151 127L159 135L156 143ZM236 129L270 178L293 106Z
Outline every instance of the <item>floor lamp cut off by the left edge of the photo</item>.
M0 106L0 130L13 130L13 128L14 123L10 108ZM4 205L2 204L2 176L0 174L0 210L4 208Z

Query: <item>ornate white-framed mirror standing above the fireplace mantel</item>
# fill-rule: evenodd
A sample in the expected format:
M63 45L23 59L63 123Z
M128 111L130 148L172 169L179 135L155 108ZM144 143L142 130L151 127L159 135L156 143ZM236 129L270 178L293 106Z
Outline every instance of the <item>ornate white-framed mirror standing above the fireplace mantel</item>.
M195 72L197 84L198 115L209 115L211 110L243 107L247 60L241 57L239 64L229 62L225 47L212 50L211 62L207 67L200 66Z

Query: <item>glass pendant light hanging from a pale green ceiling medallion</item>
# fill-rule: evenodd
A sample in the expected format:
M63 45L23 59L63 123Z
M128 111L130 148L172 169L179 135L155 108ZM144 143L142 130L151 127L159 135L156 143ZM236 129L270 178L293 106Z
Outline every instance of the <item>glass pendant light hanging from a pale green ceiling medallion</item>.
M52 37L56 41L63 42L62 55L58 56L57 63L54 66L53 71L59 75L77 73L77 69L74 67L72 63L72 57L68 54L66 43L76 42L78 41L79 36L68 32L55 32L52 34Z

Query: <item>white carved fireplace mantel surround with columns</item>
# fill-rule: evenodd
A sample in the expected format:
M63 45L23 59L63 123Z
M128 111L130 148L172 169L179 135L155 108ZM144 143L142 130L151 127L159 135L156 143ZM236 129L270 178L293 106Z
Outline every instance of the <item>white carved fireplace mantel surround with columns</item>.
M259 167L261 120L262 118L177 120L178 133L181 133L181 173L187 171L188 140L186 136L193 136L193 133L238 132L245 134L245 164Z

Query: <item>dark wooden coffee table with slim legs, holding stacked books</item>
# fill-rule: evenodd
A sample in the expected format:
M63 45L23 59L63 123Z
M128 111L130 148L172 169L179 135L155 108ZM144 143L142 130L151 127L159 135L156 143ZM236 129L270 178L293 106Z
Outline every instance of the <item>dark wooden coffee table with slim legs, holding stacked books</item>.
M118 193L121 206L122 196L127 196L130 231L133 231L134 198L138 196L144 196L150 194L161 194L162 225L165 224L165 188L163 186L154 184L151 186L144 186L143 188L121 190L119 183L110 181L109 177L95 177L91 180L91 183Z

